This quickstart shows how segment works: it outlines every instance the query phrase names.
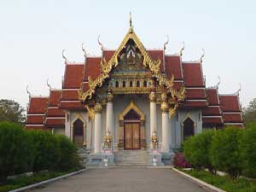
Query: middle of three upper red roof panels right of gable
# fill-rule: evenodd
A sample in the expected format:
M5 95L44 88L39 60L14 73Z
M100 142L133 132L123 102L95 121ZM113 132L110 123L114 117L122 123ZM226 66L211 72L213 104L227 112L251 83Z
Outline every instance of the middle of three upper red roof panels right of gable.
M181 68L181 57L176 55L165 56L166 61L166 77L168 79L183 79L182 68Z

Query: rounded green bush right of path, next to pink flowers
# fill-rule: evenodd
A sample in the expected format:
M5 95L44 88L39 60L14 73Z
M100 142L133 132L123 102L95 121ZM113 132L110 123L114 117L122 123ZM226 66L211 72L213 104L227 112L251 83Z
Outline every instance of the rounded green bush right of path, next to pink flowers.
M207 168L213 172L212 162L210 160L210 148L212 137L215 135L214 130L203 131L194 137L189 137L183 143L183 150L186 160L192 164L193 167L201 169Z

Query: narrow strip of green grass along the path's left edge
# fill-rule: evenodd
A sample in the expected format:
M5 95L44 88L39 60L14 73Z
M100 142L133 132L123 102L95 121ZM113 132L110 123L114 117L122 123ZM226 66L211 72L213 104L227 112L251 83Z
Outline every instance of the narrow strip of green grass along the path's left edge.
M70 172L75 172L75 171L78 171L78 170L72 170ZM33 183L45 181L49 178L59 177L67 173L69 172L41 172L28 177L17 177L15 179L8 179L6 183L3 183L2 185L0 185L0 192L9 191L12 189L18 189Z

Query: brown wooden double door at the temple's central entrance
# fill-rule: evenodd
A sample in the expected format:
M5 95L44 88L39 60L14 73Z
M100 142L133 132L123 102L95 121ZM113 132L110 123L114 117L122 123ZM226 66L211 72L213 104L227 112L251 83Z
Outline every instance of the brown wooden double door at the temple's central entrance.
M125 146L124 149L140 149L140 123L125 122Z

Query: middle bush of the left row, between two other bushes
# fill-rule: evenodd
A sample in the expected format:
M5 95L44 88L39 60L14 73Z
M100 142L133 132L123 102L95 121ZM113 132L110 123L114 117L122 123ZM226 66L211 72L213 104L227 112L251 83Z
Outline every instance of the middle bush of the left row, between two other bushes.
M58 140L49 131L27 131L32 140L34 154L33 172L57 169L61 159L61 149Z

